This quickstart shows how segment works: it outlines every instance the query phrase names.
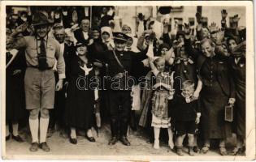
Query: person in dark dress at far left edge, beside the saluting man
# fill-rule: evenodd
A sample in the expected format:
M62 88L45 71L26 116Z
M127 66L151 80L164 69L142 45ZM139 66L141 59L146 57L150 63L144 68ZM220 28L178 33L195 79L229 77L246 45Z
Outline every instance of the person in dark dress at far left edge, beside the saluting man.
M7 63L11 61L11 58L14 57L14 59L7 67L6 140L12 136L12 139L20 143L24 142L18 131L19 121L25 117L24 71L26 62L24 56L24 53L16 49L7 52ZM9 131L9 124L12 126L12 134Z

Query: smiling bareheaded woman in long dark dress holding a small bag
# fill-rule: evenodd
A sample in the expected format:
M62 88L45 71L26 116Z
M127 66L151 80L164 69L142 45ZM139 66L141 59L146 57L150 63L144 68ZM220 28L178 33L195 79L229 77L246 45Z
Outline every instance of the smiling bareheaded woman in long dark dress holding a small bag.
M228 59L216 54L215 44L210 39L202 40L202 55L197 59L199 78L202 81L202 133L204 147L210 148L210 139L219 139L219 153L226 156L225 140L232 135L231 122L224 121L224 109L235 103L235 91Z

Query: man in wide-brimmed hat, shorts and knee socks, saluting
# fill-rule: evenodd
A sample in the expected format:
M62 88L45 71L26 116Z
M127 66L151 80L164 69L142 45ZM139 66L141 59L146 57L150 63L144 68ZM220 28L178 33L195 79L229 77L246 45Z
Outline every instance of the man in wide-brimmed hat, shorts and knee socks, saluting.
M48 37L49 24L50 21L46 15L41 12L37 13L33 18L35 35L18 37L13 43L16 49L25 48L28 66L24 77L24 88L32 135L30 151L37 151L38 147L41 147L43 151L50 151L50 147L46 143L46 134L49 125L49 109L54 108L55 79L53 66L55 58L57 59L59 73L56 91L62 89L63 79L65 78L63 54L60 53L59 42ZM25 28L27 28L26 25L19 26L12 36L24 32ZM39 113L41 113L40 124ZM39 127L40 140L38 139Z

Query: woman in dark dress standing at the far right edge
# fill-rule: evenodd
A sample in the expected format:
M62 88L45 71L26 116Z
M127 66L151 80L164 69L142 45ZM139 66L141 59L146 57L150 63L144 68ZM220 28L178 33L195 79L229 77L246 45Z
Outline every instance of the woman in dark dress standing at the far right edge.
M236 104L234 113L235 131L236 131L236 147L232 150L232 155L245 152L245 41L239 46L236 44L235 38L228 38L228 49L232 53L230 58L230 66L236 86ZM235 49L236 48L236 49Z

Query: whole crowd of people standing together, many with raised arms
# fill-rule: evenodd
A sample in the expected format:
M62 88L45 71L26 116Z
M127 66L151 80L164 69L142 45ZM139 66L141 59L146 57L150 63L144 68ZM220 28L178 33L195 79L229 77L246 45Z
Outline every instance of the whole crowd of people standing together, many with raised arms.
M140 13L132 32L125 21L115 22L114 6L102 6L93 19L83 11L70 6L29 8L18 19L7 14L6 140L24 142L23 120L29 150L50 151L47 132L56 126L72 144L77 130L97 143L92 128L110 123L109 145L131 145L128 127L140 126L154 149L160 130L167 130L168 146L179 156L184 146L190 156L206 154L212 141L222 156L245 153L246 32L238 15L228 27L223 9L221 27L208 27L197 12L195 28L184 23L170 30L168 19Z

